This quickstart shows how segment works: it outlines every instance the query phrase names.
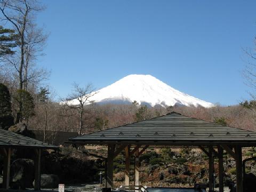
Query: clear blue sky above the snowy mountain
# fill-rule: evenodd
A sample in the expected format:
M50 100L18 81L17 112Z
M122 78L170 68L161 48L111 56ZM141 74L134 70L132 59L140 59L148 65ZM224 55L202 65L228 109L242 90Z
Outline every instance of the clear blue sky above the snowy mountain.
M51 33L41 65L61 96L150 74L187 94L233 105L250 98L242 47L253 47L256 1L43 1Z

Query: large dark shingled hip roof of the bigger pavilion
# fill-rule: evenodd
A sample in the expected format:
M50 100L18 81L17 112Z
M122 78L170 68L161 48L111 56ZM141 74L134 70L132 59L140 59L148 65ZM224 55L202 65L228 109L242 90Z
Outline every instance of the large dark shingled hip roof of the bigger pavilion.
M129 143L135 145L256 145L256 133L172 112L69 139L72 143Z

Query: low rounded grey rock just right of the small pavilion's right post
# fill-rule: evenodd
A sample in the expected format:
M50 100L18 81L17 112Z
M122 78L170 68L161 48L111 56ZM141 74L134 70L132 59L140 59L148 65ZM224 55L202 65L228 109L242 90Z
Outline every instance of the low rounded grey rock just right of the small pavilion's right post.
M41 174L41 188L42 189L54 189L58 188L60 179L58 175L54 174ZM35 181L33 182L35 185Z

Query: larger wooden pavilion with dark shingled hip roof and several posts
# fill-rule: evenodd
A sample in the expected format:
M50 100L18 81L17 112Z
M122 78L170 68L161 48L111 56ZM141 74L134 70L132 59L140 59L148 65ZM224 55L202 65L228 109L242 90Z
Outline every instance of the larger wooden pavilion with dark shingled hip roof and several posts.
M139 186L139 156L149 146L192 146L209 156L209 190L213 191L213 156L218 157L219 191L223 192L223 150L236 161L237 192L243 191L242 148L256 146L256 133L172 112L141 122L74 138L74 145L107 145L105 187L113 187L113 159L125 150L125 185L130 183L130 156L135 155L134 185ZM133 149L131 150L131 146Z

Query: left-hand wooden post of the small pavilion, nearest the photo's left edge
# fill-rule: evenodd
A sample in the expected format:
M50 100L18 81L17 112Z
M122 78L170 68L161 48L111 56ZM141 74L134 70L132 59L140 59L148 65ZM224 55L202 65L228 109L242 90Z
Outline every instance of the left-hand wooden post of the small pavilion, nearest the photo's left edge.
M9 189L10 184L10 166L11 166L11 148L5 148L3 150L4 155L4 170L3 170L3 188Z

